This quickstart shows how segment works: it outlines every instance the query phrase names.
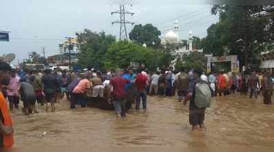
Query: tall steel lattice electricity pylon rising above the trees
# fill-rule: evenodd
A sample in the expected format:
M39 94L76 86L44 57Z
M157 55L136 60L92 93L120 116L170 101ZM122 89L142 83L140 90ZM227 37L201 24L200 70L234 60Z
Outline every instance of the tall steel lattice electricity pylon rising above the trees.
M134 25L134 22L129 22L125 19L126 14L131 14L132 16L134 13L128 12L125 10L125 5L120 5L120 10L117 10L115 12L111 12L111 14L120 14L120 20L116 20L115 22L112 22L112 25L114 24L120 24L120 40L127 40L127 27L126 24Z

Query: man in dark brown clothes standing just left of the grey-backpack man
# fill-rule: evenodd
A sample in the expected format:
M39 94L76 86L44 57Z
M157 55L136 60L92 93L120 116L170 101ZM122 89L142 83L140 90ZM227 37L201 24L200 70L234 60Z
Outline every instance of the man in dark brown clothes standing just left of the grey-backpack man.
M178 76L178 95L179 102L182 102L182 99L186 97L186 93L188 91L189 78L188 74L186 74L186 70L182 69Z

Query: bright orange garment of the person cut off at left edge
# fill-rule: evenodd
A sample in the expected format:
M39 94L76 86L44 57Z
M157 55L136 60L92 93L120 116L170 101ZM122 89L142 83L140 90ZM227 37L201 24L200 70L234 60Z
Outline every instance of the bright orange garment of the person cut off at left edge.
M12 118L10 117L10 112L8 110L7 102L3 93L0 91L0 109L3 117L3 125L12 126ZM2 135L4 147L12 147L14 145L13 134Z

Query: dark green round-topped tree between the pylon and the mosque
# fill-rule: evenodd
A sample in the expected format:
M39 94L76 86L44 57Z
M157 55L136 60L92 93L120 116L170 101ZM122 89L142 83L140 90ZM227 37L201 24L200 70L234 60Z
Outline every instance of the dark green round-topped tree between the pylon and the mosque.
M149 47L160 48L161 40L159 36L161 31L151 24L135 25L129 33L129 39L138 44L147 44Z

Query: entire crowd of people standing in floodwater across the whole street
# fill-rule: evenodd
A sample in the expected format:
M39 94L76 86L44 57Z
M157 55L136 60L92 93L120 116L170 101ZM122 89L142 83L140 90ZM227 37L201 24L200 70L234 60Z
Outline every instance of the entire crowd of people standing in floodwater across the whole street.
M193 130L203 128L205 110L210 106L213 96L253 95L257 98L262 93L264 104L271 104L274 76L270 72L211 72L185 70L173 72L169 69L148 72L145 67L134 71L131 67L114 71L88 69L83 73L55 70L18 70L10 69L6 63L0 63L0 105L1 134L12 134L12 121L6 106L10 110L18 109L23 101L25 115L37 113L36 103L45 106L45 110L55 112L55 103L66 97L70 108L87 106L88 97L102 97L112 103L115 113L125 117L127 103L135 104L135 109L147 109L147 95L159 95L159 99L177 95L178 101L189 104L189 122ZM9 138L9 137L7 137ZM0 138L0 144L3 143ZM8 139L12 144L12 138ZM1 145L0 145L1 147Z

